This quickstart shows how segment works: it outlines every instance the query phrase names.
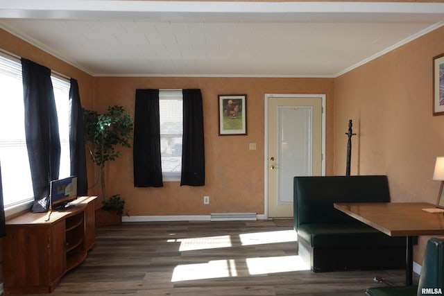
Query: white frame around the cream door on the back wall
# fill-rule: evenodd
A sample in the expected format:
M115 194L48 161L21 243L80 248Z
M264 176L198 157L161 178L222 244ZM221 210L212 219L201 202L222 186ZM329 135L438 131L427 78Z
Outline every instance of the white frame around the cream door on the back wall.
M268 219L268 101L272 98L321 98L321 153L322 153L322 175L325 175L325 94L265 94L264 104L264 219ZM258 215L260 216L260 215Z

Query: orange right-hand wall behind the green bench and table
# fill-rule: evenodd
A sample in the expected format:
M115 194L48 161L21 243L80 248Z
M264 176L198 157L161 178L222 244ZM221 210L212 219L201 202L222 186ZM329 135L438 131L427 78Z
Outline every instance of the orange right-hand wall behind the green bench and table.
M443 52L439 28L335 79L335 174L345 171L343 127L352 119L352 175L388 175L393 201L436 202L440 184L432 175L444 155L444 116L432 116L432 60Z

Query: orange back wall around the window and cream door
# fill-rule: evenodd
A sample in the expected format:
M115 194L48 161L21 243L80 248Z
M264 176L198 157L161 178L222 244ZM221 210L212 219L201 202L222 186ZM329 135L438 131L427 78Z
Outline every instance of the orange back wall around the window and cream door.
M130 216L264 214L265 94L327 95L327 173L332 173L333 86L332 78L98 77L94 107L99 112L117 104L133 115L137 88L199 88L203 96L205 186L181 187L178 182L164 182L163 188L135 188L133 152L123 148L121 157L107 168L108 193L120 193L126 199ZM248 135L218 135L218 94L247 95ZM257 150L249 150L248 143L257 143ZM203 195L210 196L210 204L203 204Z

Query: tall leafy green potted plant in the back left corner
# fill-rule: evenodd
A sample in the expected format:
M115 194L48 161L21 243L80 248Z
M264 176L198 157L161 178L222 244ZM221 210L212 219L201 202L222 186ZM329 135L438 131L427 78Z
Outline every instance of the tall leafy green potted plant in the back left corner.
M105 186L105 164L117 159L121 153L117 146L130 148L130 141L133 139L133 119L122 106L114 105L108 107L103 114L96 111L83 110L83 122L85 125L85 142L89 150L89 155L99 167L99 177L102 191L102 207L104 211L114 212L114 216L119 217L125 207L125 200L119 194L106 195ZM126 212L128 215L128 212ZM96 215L96 222L100 225L100 217ZM104 223L114 224L114 223Z

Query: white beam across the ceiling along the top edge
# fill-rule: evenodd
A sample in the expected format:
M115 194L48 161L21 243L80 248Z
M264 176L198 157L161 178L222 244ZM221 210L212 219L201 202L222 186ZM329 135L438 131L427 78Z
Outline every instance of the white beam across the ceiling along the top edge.
M444 21L444 3L3 0L3 19Z

